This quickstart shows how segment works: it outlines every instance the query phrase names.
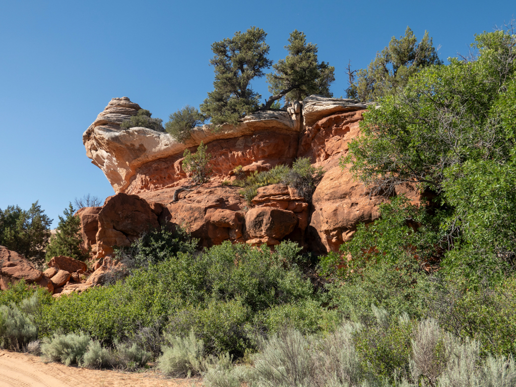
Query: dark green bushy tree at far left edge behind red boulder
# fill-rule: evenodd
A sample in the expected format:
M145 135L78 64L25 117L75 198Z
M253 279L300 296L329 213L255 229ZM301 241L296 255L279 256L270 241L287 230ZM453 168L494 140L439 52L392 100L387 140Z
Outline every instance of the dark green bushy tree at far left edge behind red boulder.
M12 205L4 211L0 209L0 246L40 265L44 261L51 224L52 219L45 215L37 201L28 211Z

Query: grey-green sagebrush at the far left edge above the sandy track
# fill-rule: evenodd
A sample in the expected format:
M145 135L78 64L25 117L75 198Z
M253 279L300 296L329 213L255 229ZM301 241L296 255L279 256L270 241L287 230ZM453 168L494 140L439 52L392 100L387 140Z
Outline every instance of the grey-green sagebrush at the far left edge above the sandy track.
M33 296L31 300L37 298ZM31 303L34 301L28 301ZM27 306L27 305L26 305ZM23 350L38 338L34 316L20 310L14 303L0 305L0 347Z

